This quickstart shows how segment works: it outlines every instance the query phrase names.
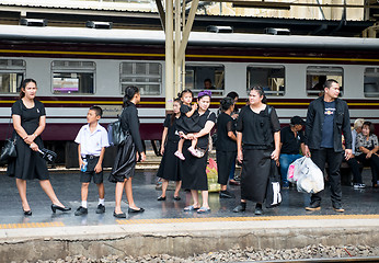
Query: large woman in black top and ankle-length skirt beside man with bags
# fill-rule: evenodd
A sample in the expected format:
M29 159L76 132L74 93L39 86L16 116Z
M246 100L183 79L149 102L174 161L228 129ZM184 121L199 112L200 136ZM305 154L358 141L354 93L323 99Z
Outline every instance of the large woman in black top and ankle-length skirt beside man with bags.
M255 215L262 215L271 160L278 161L280 124L274 107L267 106L261 87L249 93L249 105L241 110L237 124L238 160L242 162L241 204L233 211L244 211L246 201L256 203Z

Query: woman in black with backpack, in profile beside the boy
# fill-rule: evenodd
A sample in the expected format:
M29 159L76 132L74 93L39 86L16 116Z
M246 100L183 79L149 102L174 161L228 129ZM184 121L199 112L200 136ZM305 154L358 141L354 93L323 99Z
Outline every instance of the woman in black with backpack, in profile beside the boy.
M133 198L131 179L135 175L136 162L145 161L146 155L139 135L139 119L136 104L140 102L140 94L137 87L127 87L123 101L124 110L120 115L122 128L129 136L117 147L117 155L110 174L110 182L116 183L114 217L126 218L122 211L122 198L125 188L128 199L128 213L141 213L145 209L137 207Z

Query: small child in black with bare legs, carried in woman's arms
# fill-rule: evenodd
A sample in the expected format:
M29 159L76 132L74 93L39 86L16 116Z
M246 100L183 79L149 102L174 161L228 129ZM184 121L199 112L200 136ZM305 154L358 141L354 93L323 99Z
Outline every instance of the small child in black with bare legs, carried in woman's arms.
M190 139L187 137L187 134L192 133L198 133L200 132L200 126L198 125L199 115L197 110L197 104L193 104L193 93L190 89L186 89L182 91L179 96L181 98L182 105L181 105L181 117L177 119L177 130L179 135L181 136L181 139L177 144L177 151L175 151L175 156L181 159L185 160L185 157L183 156L183 144L185 139ZM202 158L204 153L199 150L196 150L197 145L197 138L193 138L191 140L191 147L188 147L188 151L191 155L197 158Z

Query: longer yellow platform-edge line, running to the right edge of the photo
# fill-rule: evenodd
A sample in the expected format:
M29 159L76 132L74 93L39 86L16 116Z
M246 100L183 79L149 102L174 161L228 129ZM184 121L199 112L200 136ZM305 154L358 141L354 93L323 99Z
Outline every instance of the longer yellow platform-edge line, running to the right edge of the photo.
M205 221L275 221L275 220L320 220L320 219L379 219L379 215L323 215L323 216L272 216L272 217L207 217L207 218L161 218L161 219L119 219L119 225L171 224Z

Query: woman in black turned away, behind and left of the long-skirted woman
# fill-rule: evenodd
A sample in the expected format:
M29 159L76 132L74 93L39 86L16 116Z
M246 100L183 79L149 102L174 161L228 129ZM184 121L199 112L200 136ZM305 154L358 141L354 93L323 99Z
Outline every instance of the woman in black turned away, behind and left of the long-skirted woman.
M221 113L217 117L216 160L218 183L221 184L220 198L232 198L233 194L227 191L228 179L232 165L236 165L237 137L236 125L231 114L234 110L234 100L227 96L220 101Z

